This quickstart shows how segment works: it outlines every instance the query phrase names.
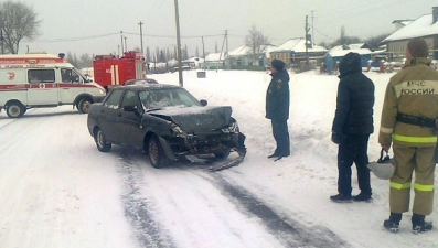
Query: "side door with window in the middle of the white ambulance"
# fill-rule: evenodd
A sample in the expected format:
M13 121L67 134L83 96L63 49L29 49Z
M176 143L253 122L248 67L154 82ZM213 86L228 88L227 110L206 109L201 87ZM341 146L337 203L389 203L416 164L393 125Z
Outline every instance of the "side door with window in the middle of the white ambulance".
M28 69L28 105L58 105L58 87L55 84L55 69Z

